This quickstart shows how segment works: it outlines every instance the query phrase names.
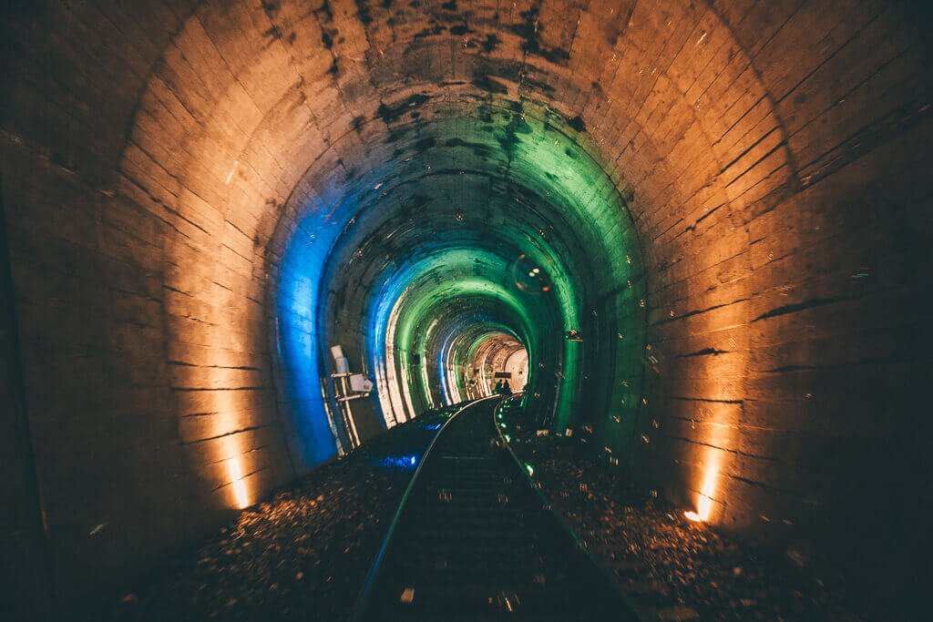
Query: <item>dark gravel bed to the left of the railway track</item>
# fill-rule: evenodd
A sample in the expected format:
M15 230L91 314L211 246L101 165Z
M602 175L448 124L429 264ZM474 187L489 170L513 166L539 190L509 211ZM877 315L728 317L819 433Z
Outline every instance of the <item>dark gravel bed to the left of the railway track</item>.
M411 455L420 459L437 434L425 421L442 419L399 425L245 509L95 619L344 619L411 478Z

